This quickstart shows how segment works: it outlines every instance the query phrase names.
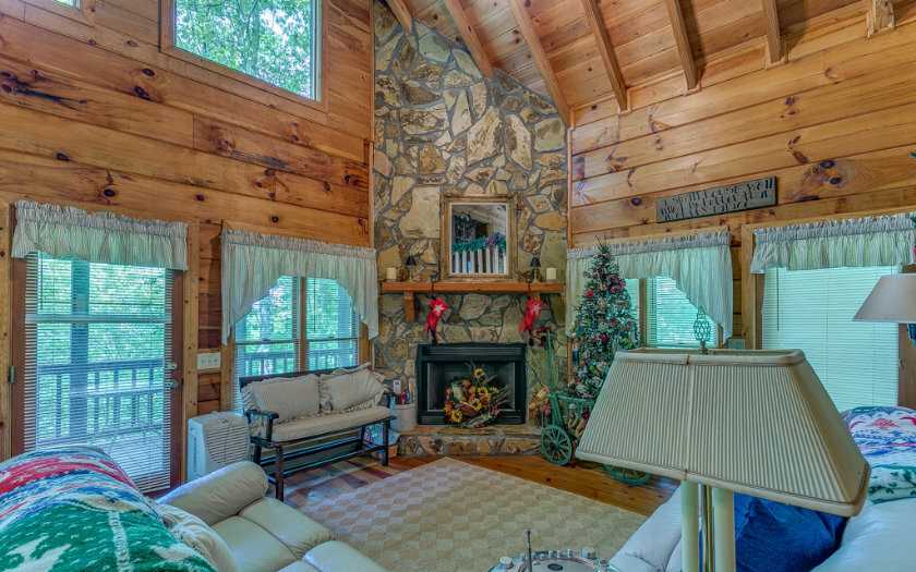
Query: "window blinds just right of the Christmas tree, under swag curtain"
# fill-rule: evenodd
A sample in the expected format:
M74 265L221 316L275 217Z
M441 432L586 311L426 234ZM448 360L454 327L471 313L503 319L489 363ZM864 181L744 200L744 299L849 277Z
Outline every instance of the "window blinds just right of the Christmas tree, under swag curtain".
M650 278L646 284L646 343L650 348L699 348L694 334L697 307L671 278ZM710 327L709 346L719 345L719 328Z

